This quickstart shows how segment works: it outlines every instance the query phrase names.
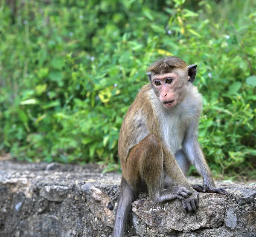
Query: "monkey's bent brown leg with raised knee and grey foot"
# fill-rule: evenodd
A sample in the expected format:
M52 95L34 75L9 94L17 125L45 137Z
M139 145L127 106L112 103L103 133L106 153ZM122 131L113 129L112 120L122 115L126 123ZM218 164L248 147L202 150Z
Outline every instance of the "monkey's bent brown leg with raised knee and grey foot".
M138 161L140 176L145 181L153 202L184 199L192 194L182 186L164 189L163 152L156 135L149 134L131 150L127 163L132 160Z

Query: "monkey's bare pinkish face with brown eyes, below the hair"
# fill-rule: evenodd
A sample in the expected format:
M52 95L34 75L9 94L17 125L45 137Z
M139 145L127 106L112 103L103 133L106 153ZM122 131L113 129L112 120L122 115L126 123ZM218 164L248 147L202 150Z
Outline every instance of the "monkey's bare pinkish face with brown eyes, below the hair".
M151 83L154 92L167 109L183 101L188 86L188 76L183 72L170 72L154 75Z

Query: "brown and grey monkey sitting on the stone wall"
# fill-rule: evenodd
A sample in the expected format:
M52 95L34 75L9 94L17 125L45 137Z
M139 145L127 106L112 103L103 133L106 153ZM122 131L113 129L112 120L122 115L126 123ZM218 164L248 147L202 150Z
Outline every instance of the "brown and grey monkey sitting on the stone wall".
M153 203L180 199L186 211L199 207L198 192L227 195L215 188L198 143L202 95L192 83L197 65L177 57L158 59L147 69L144 85L120 128L118 156L122 179L113 237L122 237L134 195L146 191ZM190 165L203 185L186 179Z

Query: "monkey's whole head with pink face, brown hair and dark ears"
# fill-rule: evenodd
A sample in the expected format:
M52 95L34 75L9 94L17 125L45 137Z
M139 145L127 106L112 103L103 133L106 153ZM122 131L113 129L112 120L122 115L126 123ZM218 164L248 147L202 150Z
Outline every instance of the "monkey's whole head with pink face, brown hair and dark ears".
M183 101L195 80L196 67L187 66L185 61L176 57L159 59L148 67L148 79L164 107L170 109Z

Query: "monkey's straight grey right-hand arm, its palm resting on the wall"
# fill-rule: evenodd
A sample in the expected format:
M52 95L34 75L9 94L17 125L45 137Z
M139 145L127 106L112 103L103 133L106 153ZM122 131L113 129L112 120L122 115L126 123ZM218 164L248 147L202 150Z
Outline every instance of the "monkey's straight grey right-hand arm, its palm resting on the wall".
M205 160L204 153L198 143L197 127L198 126L195 123L192 123L189 126L189 129L183 141L183 150L185 152L185 155L189 159L191 164L195 166L198 173L203 177L203 192L227 195L227 191L224 188L215 188L211 171Z

